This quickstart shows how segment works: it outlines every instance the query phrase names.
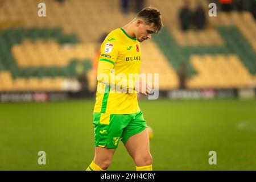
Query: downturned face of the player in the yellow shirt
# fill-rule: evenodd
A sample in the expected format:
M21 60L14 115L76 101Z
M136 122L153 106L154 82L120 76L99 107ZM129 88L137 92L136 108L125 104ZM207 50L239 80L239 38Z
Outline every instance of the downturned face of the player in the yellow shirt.
M154 24L146 24L141 22L137 24L137 34L136 38L139 42L143 42L144 40L151 39L152 34L155 33Z

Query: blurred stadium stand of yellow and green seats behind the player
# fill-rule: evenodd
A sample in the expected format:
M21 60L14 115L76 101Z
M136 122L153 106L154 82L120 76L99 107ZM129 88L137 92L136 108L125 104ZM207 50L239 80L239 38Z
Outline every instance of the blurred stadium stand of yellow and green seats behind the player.
M98 38L135 14L112 9L119 7L117 0L61 5L46 0L47 15L39 17L38 3L9 0L0 7L0 92L72 90L67 83L76 80L81 67L93 91ZM208 12L207 1L202 3ZM256 25L250 13L219 11L218 18L207 18L205 30L183 32L177 18L181 1L148 0L147 5L162 11L165 27L154 41L141 44L141 71L160 73L160 90L179 88L177 72L183 63L188 65L190 89L256 86ZM106 7L111 12L102 11Z

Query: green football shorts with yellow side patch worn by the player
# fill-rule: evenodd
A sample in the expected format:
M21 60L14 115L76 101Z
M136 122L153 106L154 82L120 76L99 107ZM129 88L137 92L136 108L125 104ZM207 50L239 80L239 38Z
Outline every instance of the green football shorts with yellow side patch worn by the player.
M96 147L117 148L127 140L146 129L141 111L135 114L93 113L94 139Z

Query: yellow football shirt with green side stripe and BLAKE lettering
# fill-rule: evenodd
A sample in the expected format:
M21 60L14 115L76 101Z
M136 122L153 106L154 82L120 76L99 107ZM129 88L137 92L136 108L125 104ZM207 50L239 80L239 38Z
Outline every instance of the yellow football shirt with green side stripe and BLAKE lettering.
M104 82L100 75L112 74L115 77L115 85L119 84L122 88L129 83L127 88L134 89L134 79L129 78L129 73L139 75L141 61L141 46L137 39L131 38L122 28L110 32L101 44L94 113L133 114L140 111L136 92L117 92L109 86L110 80ZM120 77L119 74L126 78ZM106 92L102 93L102 90Z

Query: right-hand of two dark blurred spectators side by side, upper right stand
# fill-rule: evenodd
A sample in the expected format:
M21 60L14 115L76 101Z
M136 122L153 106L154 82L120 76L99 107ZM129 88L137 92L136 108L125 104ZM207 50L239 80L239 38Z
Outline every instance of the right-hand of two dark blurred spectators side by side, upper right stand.
M203 6L201 4L197 5L195 12L192 15L192 23L197 30L203 30L206 24L206 17Z

